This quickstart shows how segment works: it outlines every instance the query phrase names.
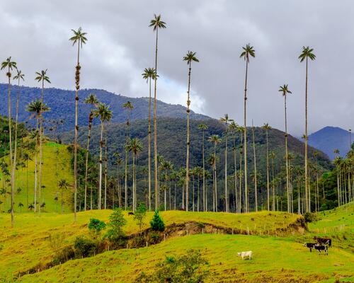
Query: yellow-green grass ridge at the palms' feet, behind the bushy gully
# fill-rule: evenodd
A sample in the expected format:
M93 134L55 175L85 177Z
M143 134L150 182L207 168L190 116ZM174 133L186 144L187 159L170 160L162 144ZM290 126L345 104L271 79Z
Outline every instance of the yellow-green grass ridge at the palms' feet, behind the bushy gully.
M73 243L76 236L88 233L89 219L98 218L108 221L111 210L94 210L80 212L77 223L73 224L73 214L47 213L34 216L33 213L23 213L16 217L16 226L10 229L9 214L0 214L0 275L11 279L18 272L26 272L37 265L45 265L53 258L54 253L50 248L49 236L55 233L64 233L65 242ZM149 226L152 212L147 215L144 228ZM247 229L250 231L266 231L282 228L294 222L296 215L287 213L258 212L250 214L227 214L215 212L161 212L165 224L183 223L185 221L198 221L205 224L215 224L229 228ZM285 218L286 216L286 218ZM132 216L127 216L127 234L137 233L138 227ZM253 219L253 220L251 220ZM255 228L256 227L256 228ZM1 276L0 276L1 278ZM0 281L1 282L1 281Z

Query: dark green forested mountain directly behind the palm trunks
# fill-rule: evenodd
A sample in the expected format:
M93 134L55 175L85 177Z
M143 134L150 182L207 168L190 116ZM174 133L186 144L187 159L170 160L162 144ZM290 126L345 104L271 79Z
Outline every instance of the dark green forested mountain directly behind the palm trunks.
M205 132L205 159L207 159L210 154L212 154L213 144L207 141L207 138L212 134L218 134L222 138L220 144L217 145L217 157L219 161L217 162L217 171L219 178L222 178L224 172L224 125L217 120L192 120L190 122L190 167L202 166L202 132L198 129L198 125L203 122L208 126ZM159 118L157 121L157 143L158 143L158 153L163 156L166 160L171 161L175 169L185 166L185 133L186 133L186 120L174 119L174 118ZM100 126L93 127L91 134L91 153L93 156L98 155L99 150L99 134ZM108 144L108 158L110 159L111 168L113 168L114 157L113 153L120 152L121 156L125 155L125 133L127 126L125 123L110 123L105 127L105 135L107 137ZM147 166L147 120L136 120L130 123L130 137L137 137L142 141L143 150L138 156L137 164L138 166ZM269 150L275 153L275 173L280 171L280 167L285 166L285 161L283 160L285 156L285 141L284 132L278 129L269 130ZM234 157L233 157L233 137L234 134L229 133L228 136L228 171L230 174L234 171ZM62 142L72 143L73 133L66 132L61 134ZM85 146L87 139L87 127L81 127L79 131L79 143L81 146ZM251 128L248 130L248 162L249 162L249 172L253 171L253 148L252 148L252 132ZM236 133L235 136L236 143L236 162L239 166L239 156L240 156L240 133ZM255 127L255 143L256 143L256 159L258 166L258 173L261 173L262 178L265 177L265 157L266 157L266 141L265 141L265 130L260 127ZM294 158L290 162L292 165L303 166L304 164L304 144L295 137L288 137L288 146L290 153L293 154ZM153 142L152 142L153 149ZM152 150L153 151L153 150ZM309 158L314 160L314 152L316 149L309 148ZM153 154L153 152L152 152ZM330 168L331 162L326 154L319 152L317 156L319 164L324 168ZM129 157L128 163L132 162L131 156ZM207 164L207 162L206 162ZM209 168L207 164L207 168Z

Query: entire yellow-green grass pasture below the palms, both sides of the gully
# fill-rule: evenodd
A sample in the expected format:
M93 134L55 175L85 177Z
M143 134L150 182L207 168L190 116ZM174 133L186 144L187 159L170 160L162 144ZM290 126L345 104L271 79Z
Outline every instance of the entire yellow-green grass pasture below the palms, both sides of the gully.
M88 234L87 223L94 217L107 221L110 210L80 212L73 224L72 214L47 213L33 216L26 213L16 219L16 227L8 229L10 216L0 214L0 282L13 282L19 272L31 268L44 268L52 260L54 252L50 235L62 233L64 245L73 243L79 235ZM128 248L106 251L92 258L69 260L48 270L25 275L16 282L135 282L140 272L153 272L156 263L166 255L181 255L193 248L202 251L209 262L210 277L207 282L350 282L354 279L353 250L348 249L353 241L353 203L333 211L326 211L321 220L309 224L309 231L292 231L282 236L268 236L271 231L294 223L298 216L287 213L253 212L250 214L227 214L212 212L161 212L166 226L195 221L213 224L222 228L245 229L253 235L230 235L217 231L185 236L166 237L157 245L146 248ZM147 221L152 218L149 212ZM132 216L127 216L127 234L136 233L138 227ZM338 229L344 225L346 239ZM147 224L144 226L147 228ZM335 229L336 228L336 229ZM319 232L317 231L319 229ZM326 229L326 233L324 233ZM270 231L270 232L269 232ZM309 253L302 246L312 236L324 235L333 238L329 256ZM343 245L346 243L346 245ZM236 253L253 250L254 260L242 261ZM113 279L114 278L114 279Z

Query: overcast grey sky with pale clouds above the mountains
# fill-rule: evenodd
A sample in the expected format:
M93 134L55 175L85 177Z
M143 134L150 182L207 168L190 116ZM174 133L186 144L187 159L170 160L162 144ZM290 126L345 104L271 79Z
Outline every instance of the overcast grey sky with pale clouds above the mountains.
M88 42L81 52L81 88L124 96L148 96L142 70L154 66L161 13L157 98L185 105L188 79L182 57L197 52L191 108L211 117L228 113L243 123L244 69L241 47L250 43L249 124L284 129L279 86L288 83L289 132L304 134L303 45L314 48L309 64L309 132L326 125L354 129L354 1L118 1L18 0L0 3L1 60L12 56L38 86L35 71L48 69L52 86L74 88L76 48L69 37L81 26ZM0 77L6 82L6 77Z

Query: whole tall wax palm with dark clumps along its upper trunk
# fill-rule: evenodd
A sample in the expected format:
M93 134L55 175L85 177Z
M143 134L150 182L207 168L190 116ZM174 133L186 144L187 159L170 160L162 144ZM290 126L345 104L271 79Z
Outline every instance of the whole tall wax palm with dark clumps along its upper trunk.
M79 115L79 89L80 89L80 47L86 44L87 33L82 31L80 27L78 30L72 30L74 35L69 38L74 46L77 43L77 64L75 71L75 129L74 129L74 221L76 222L76 206L77 206L77 137L79 132L78 115ZM100 204L101 205L101 204Z

